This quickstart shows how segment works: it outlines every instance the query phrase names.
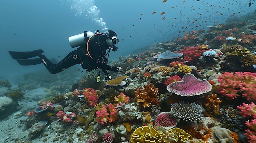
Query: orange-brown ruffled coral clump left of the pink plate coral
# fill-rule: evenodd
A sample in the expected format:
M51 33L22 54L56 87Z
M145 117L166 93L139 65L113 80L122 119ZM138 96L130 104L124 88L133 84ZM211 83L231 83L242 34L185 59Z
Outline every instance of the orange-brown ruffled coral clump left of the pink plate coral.
M155 88L153 83L148 83L135 91L135 100L139 102L139 105L146 108L150 107L150 104L157 103L158 95L158 88Z

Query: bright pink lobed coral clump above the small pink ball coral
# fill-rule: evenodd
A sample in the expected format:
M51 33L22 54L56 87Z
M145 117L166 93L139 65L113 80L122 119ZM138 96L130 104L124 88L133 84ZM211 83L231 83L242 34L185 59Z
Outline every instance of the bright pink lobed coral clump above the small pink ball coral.
M104 123L112 123L117 121L117 109L110 103L107 106L103 105L103 107L96 112L96 121L104 124Z

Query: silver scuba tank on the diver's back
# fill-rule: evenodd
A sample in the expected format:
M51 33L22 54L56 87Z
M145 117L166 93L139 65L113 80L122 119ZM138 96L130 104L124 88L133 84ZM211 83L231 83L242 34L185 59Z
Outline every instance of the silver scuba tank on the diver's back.
M92 37L92 35L94 35L93 32L84 31L81 34L77 34L77 35L68 37L68 42L70 43L70 46L72 48L75 48L78 46L85 46L87 44L89 38Z

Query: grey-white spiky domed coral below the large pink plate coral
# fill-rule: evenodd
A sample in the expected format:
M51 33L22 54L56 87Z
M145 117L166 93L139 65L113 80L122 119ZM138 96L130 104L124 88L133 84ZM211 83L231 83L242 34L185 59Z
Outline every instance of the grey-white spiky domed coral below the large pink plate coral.
M201 121L203 109L195 103L177 102L171 105L171 114L187 122Z

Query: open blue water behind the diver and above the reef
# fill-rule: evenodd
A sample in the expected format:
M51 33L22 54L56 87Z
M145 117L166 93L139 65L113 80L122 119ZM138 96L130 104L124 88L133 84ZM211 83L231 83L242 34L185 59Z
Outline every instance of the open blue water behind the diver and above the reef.
M20 66L7 50L43 49L47 57L61 60L74 50L68 37L108 28L116 31L121 40L118 51L110 53L110 59L116 59L153 43L171 42L189 31L239 20L255 11L255 4L249 7L248 3L249 0L1 0L0 76L45 68L43 64Z

